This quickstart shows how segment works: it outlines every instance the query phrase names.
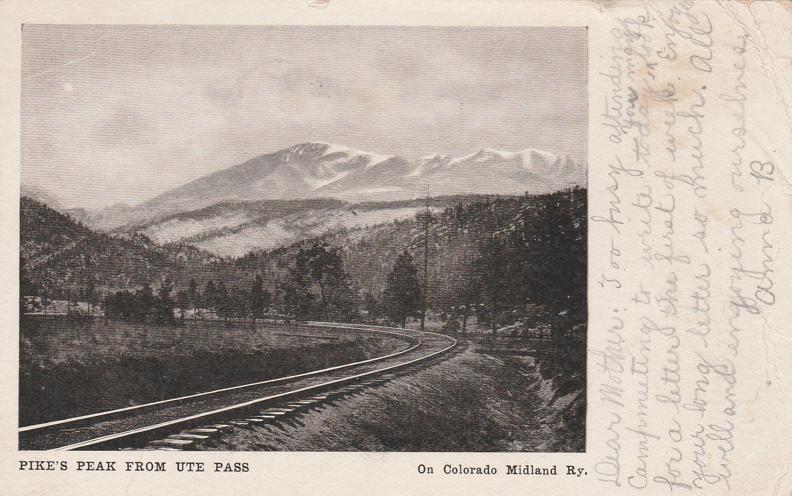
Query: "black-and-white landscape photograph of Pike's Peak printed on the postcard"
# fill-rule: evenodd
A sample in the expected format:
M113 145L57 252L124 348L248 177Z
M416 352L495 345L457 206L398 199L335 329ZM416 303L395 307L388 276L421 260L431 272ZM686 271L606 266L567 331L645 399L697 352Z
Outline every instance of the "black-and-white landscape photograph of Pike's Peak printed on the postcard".
M585 27L21 40L20 450L586 451Z

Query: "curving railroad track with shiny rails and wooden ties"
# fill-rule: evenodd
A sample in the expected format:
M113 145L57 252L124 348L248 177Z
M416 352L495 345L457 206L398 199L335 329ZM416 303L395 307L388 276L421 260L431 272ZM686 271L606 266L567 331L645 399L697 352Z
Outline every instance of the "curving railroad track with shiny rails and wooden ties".
M456 339L428 331L308 322L314 327L378 332L410 346L385 356L302 374L19 428L20 450L189 449L223 430L278 422L290 415L441 358Z

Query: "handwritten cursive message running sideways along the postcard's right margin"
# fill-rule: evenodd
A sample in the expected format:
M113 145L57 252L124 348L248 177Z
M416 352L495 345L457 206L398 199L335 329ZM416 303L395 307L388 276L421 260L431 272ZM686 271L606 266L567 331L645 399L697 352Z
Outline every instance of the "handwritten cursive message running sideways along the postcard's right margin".
M592 96L589 449L630 491L725 494L747 340L780 305L780 177L748 128L750 36L713 5L654 2L612 23ZM722 16L718 17L723 19ZM601 238L598 238L601 239ZM745 443L745 440L742 441Z

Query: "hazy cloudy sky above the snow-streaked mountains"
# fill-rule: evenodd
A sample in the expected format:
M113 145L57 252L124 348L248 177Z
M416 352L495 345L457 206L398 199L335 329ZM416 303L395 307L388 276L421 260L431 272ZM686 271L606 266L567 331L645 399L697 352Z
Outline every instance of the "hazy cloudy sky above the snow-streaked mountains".
M22 177L135 204L306 141L416 158L586 154L581 28L23 30Z

